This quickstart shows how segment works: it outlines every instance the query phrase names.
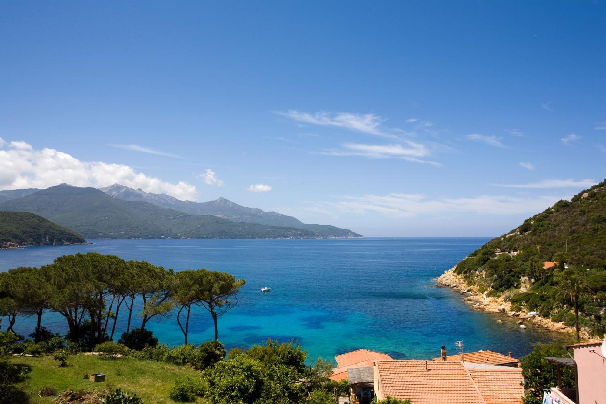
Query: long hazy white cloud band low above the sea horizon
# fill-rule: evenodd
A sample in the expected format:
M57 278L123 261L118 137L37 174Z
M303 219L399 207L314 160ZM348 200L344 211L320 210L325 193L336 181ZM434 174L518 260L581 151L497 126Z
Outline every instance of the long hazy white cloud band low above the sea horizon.
M408 218L421 215L435 217L445 214L474 215L520 215L536 214L546 206L563 199L562 195L541 195L537 197L510 197L507 195L481 195L468 198L428 198L419 194L387 194L344 196L339 201L320 201L298 209L307 212L331 214L380 214L390 219Z

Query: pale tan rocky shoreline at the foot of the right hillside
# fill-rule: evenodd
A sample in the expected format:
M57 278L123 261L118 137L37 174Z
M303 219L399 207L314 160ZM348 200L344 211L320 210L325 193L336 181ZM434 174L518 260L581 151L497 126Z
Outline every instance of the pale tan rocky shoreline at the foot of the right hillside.
M549 318L542 317L541 315L529 315L525 310L513 311L511 302L505 299L505 295L500 297L488 297L488 291L481 292L478 286L468 284L462 275L454 273L454 269L456 269L456 266L444 271L444 274L435 278L436 286L450 288L452 291L460 293L463 301L465 301L471 309L518 318L518 323L521 326L530 324L547 331L574 334L574 327L566 326L564 323L553 322ZM500 321L501 320L497 320L497 322ZM581 329L581 338L590 338L590 335Z

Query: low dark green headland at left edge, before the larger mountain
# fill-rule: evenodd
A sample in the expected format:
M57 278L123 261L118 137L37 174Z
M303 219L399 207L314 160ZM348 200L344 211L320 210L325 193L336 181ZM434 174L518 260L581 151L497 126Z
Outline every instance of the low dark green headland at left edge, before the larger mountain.
M0 248L81 243L81 235L38 215L0 211Z

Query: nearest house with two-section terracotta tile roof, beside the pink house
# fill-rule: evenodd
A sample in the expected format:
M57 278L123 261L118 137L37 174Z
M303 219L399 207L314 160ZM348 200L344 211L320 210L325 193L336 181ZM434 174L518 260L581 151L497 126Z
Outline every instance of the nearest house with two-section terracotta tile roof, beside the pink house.
M375 396L413 404L521 404L522 369L448 360L379 360Z

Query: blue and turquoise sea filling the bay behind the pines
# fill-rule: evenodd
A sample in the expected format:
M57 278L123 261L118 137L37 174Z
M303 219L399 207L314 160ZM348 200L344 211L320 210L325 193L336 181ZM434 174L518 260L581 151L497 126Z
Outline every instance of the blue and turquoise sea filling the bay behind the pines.
M85 246L0 251L0 271L39 266L55 257L96 251L126 260L183 269L207 268L244 278L241 303L219 318L219 339L247 347L268 337L298 340L310 358L333 359L353 349L387 352L394 359L430 359L444 343L464 340L465 351L491 349L527 354L553 335L475 312L461 295L434 288L433 278L488 238L361 238L322 240L92 240ZM261 293L262 286L271 292ZM138 318L133 315L135 325ZM502 317L499 317L502 318ZM121 320L125 320L125 316ZM43 325L65 332L64 321L45 314ZM18 317L28 334L34 319ZM119 322L118 332L125 328ZM178 345L175 317L149 325L161 342ZM119 333L118 333L119 335ZM210 315L192 311L189 342L213 337Z

